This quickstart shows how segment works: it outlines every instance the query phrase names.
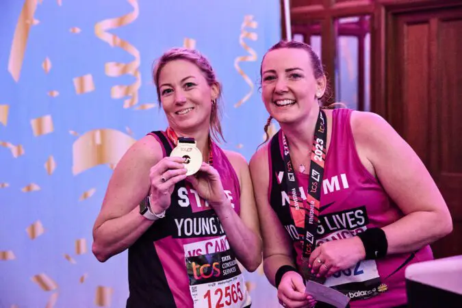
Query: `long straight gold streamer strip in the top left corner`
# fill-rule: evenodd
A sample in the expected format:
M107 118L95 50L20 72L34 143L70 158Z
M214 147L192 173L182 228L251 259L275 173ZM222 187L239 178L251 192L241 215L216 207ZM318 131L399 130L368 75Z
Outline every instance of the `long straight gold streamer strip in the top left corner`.
M14 81L18 82L23 67L24 53L27 47L27 39L31 29L31 21L37 8L37 0L25 0L23 9L14 29L13 42L10 49L10 59L8 60L8 72L12 75Z

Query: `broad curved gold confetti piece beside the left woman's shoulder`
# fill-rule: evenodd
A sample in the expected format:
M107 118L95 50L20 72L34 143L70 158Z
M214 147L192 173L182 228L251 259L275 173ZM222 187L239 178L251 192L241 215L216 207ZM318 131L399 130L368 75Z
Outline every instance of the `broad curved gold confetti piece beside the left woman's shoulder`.
M74 175L100 164L117 164L135 142L135 139L115 129L85 133L73 144Z

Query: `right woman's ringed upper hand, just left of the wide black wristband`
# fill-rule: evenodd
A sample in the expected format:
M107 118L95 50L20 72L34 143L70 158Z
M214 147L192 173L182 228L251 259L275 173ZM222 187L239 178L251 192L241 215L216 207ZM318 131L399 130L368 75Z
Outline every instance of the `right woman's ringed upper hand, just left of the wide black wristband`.
M352 268L364 258L363 242L354 236L322 243L311 253L309 266L318 277L330 277L339 270Z

